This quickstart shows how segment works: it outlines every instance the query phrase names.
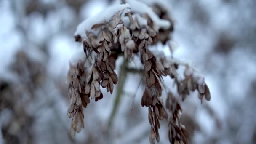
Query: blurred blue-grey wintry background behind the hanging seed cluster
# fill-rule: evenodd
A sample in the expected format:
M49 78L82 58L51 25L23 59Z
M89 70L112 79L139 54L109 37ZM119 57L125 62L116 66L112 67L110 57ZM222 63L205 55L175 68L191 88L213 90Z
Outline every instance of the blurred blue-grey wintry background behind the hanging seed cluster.
M80 46L73 34L77 24L110 3L0 0L0 144L149 143L148 109L140 102L144 88L140 75L129 72L114 118L116 92L104 89L104 99L84 109L85 128L75 139L69 136L67 71ZM189 142L255 144L256 1L168 3L175 21L173 39L180 46L174 57L197 67L211 91L211 101L203 105L197 93L182 102ZM165 83L176 91L172 80ZM160 144L169 143L167 125L161 122Z

